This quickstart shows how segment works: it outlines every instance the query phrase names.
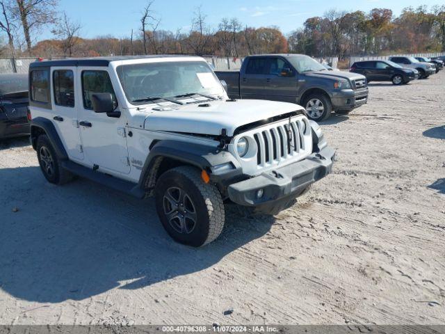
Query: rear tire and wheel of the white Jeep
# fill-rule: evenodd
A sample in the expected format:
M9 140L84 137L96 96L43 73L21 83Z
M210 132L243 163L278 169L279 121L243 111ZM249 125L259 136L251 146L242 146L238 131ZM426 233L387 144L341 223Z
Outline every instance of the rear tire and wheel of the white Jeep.
M65 184L74 178L72 173L61 166L60 159L46 135L38 136L36 150L40 169L48 182Z

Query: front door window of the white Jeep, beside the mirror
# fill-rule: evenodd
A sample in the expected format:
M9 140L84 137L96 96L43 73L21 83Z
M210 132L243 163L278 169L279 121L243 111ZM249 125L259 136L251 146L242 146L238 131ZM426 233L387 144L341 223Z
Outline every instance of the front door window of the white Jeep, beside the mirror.
M82 72L83 107L92 109L91 97L96 93L111 93L114 107L118 106L118 100L111 84L110 76L106 71L88 70Z

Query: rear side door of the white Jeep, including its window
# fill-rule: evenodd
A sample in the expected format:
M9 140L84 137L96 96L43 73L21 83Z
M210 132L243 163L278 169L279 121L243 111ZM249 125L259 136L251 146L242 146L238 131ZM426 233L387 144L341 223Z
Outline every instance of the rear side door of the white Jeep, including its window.
M62 140L68 157L74 161L83 160L81 138L77 125L77 113L80 100L76 101L74 87L76 83L76 67L51 67L52 82L52 121L59 138Z

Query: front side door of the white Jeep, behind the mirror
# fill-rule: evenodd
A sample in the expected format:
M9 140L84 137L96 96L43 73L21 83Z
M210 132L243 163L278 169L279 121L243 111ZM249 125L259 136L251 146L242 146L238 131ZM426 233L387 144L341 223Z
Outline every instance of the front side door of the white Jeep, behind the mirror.
M77 77L81 78L82 89L79 129L88 165L100 171L130 173L124 118L108 117L106 113L92 110L93 94L111 93L119 111L108 72L104 67L78 67Z

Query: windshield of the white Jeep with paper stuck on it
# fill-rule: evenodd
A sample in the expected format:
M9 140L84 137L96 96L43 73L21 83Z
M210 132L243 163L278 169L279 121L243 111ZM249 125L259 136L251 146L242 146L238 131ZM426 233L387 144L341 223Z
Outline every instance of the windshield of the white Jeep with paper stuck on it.
M205 61L169 61L120 65L120 84L132 104L160 99L174 100L181 95L223 95L224 88Z

